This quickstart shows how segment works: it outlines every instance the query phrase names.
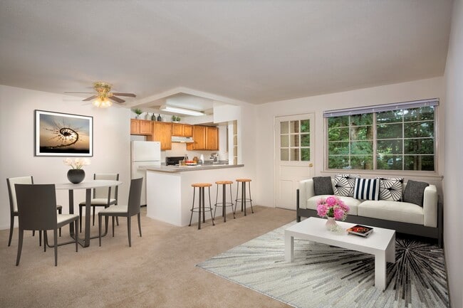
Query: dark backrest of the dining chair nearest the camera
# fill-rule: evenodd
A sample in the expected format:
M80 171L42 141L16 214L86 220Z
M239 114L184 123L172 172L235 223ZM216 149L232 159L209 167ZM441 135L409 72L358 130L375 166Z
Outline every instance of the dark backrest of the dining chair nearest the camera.
M55 184L15 184L19 228L23 230L56 229Z

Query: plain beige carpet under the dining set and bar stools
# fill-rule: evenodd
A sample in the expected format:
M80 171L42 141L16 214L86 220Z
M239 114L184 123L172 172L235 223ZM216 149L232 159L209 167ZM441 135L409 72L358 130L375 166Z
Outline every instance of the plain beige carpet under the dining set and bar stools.
M53 249L38 246L38 236L24 236L21 262L16 264L18 230L8 247L9 230L0 230L1 307L289 307L246 287L195 267L196 264L293 221L296 213L254 207L254 214L227 223L217 217L197 226L175 227L145 216L142 238L132 218L132 247L127 221L120 220L115 237L75 252L74 245ZM98 223L97 223L98 224ZM68 239L69 228L63 230ZM98 225L92 228L98 234ZM50 235L49 235L50 236ZM62 240L62 239L61 239Z

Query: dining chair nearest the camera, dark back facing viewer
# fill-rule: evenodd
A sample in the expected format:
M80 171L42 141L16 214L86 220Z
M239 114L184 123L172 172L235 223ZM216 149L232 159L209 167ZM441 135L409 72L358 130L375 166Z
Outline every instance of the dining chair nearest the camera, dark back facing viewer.
M24 230L43 231L43 249L46 251L47 230L53 230L55 248L55 266L58 265L58 228L74 223L76 236L76 252L78 251L77 214L56 213L55 184L15 184L16 201L18 203L19 243L16 266L21 259Z

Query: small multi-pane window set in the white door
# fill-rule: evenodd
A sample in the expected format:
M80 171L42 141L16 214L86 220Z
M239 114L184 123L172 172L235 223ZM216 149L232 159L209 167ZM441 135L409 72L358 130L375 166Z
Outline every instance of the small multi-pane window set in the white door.
M280 122L280 160L311 160L310 120Z

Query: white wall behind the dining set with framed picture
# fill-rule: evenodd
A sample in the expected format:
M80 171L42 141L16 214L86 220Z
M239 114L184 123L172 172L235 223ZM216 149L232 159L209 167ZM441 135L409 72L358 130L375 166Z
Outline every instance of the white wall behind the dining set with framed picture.
M93 157L85 166L86 178L93 173L120 174L120 203L127 202L130 186L130 110L123 107L100 109L78 97L25 90L0 85L0 229L9 228L9 196L6 178L32 175L36 184L67 182L69 167L62 156L34 156L34 110L93 116ZM78 203L84 191L74 193ZM57 201L68 213L67 191L57 191ZM75 207L76 209L76 207ZM17 219L15 226L18 226Z

